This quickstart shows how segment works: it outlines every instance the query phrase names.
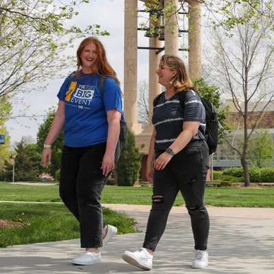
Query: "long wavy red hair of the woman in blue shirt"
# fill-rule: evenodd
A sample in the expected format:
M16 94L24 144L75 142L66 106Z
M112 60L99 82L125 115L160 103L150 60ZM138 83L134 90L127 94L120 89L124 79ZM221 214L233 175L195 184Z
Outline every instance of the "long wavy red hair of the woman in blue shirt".
M97 47L98 58L95 61L95 64L93 64L93 68L95 69L95 71L97 71L97 73L101 73L102 75L112 77L116 81L116 83L120 85L120 81L117 78L116 72L114 71L114 69L112 69L112 66L110 66L110 64L108 63L103 44L95 36L90 36L82 40L81 44L79 45L77 49L77 73L76 73L77 78L80 75L80 66L82 66L82 60L80 58L80 55L82 51L84 50L84 47L86 47L86 45L88 44L94 44Z

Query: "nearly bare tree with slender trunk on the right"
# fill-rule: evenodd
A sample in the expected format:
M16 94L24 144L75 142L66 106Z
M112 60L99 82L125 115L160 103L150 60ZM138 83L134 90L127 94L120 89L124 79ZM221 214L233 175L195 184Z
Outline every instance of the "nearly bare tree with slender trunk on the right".
M253 8L235 5L235 17L249 18ZM273 23L262 14L247 21L237 22L231 29L233 36L223 36L221 29L214 29L207 51L208 75L232 99L233 109L239 119L238 130L227 136L227 143L240 158L244 169L245 186L249 186L247 155L249 140L264 118L269 103L274 99L274 48ZM253 113L256 112L256 115ZM253 115L252 115L253 114ZM252 123L249 118L252 116ZM244 137L237 138L242 134Z

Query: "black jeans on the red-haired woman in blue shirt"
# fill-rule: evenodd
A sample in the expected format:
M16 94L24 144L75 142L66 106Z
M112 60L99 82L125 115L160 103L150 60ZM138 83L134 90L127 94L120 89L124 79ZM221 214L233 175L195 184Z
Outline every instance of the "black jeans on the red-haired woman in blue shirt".
M90 147L64 145L60 197L80 223L81 247L103 246L101 192L108 177L101 170L106 143Z

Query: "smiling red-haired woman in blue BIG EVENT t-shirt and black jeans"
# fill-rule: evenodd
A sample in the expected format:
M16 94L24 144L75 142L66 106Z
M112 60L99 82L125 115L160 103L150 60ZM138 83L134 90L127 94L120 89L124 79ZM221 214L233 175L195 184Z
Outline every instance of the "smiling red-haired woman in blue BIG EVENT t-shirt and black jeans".
M99 75L105 75L103 92ZM120 121L124 120L120 82L96 37L77 49L77 71L66 77L58 93L58 110L45 140L42 163L51 162L51 145L64 130L60 197L79 221L81 247L86 252L72 260L86 265L101 262L99 247L117 233L103 222L101 192L118 160Z

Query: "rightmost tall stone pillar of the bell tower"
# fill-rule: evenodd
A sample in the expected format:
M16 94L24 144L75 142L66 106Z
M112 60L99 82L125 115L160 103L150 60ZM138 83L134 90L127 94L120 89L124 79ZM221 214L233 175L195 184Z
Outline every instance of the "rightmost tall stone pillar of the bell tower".
M188 76L193 80L201 78L201 4L189 1L188 12Z

